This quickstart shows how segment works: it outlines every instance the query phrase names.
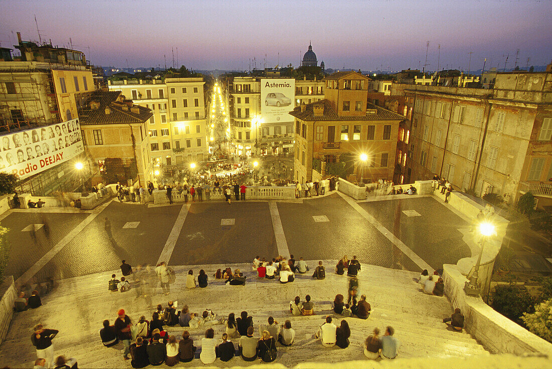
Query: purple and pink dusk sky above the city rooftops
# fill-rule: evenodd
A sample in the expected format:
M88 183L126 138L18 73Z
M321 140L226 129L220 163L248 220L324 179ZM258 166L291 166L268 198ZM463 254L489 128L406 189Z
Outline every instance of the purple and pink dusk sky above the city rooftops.
M299 65L312 41L326 68L502 68L552 59L552 1L2 1L0 42L43 39L85 52L95 65L247 69ZM89 49L88 49L89 47Z

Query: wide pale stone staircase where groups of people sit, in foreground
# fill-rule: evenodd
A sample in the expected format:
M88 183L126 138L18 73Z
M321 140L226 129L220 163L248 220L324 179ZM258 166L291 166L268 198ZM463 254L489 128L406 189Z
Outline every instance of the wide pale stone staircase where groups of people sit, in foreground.
M314 261L307 261L314 266ZM291 284L281 285L276 280L259 280L251 271L250 265L227 265L239 268L247 275L246 286L225 285L224 281L214 280L212 275L222 265L175 266L177 278L171 285L171 295L163 296L159 287L152 295L150 303L144 297L136 297L136 291L109 292L108 280L113 271L76 277L57 282L54 292L43 298L44 306L38 309L16 313L6 341L0 346L0 363L13 368L29 367L35 360L34 347L30 343L33 325L43 323L47 328L59 329L54 339L55 355L76 357L79 367L83 368L126 368L130 361L124 361L121 355L123 345L104 347L98 331L104 319L113 324L116 312L124 308L126 314L135 322L140 315L151 319L156 304L166 306L168 300L178 301L178 309L187 304L190 311L201 313L210 308L217 317L227 317L235 313L236 317L245 310L253 316L255 336L259 336L258 326L266 323L269 316L280 324L290 320L295 329L295 343L289 347L278 344L277 362L291 367L301 362L342 362L344 360L363 360L362 343L371 334L374 327L383 332L391 325L395 336L401 342L400 357L464 357L486 355L484 347L469 334L450 331L442 323L443 317L450 316L452 307L446 297L428 296L419 292L412 281L415 272L385 269L379 266L363 265L359 272L359 292L367 295L373 312L367 320L347 318L351 327L351 345L347 349L322 347L314 338L317 328L331 314L338 325L341 315L333 314L332 301L337 293L347 296L347 276L334 274L336 260L326 260L326 279L313 280L311 274L296 275ZM187 289L185 276L189 269L197 275L204 269L209 275L207 288ZM120 277L120 271L116 272ZM300 296L311 295L315 302L315 313L311 317L294 317L289 313L289 301ZM224 326L214 325L215 338L220 338ZM188 330L195 346L201 345L205 327L168 327L171 335L179 339L183 330ZM237 347L237 339L232 340ZM216 367L251 366L253 363L233 359L224 363L215 361ZM181 363L177 367L196 367L199 361Z

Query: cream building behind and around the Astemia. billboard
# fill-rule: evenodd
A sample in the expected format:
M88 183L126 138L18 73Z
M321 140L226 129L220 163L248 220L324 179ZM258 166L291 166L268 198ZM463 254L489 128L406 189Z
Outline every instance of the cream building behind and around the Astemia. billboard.
M295 106L324 98L324 83L295 80ZM233 77L227 83L230 125L236 155L282 154L293 151L293 117L289 121L264 122L261 116L261 78Z

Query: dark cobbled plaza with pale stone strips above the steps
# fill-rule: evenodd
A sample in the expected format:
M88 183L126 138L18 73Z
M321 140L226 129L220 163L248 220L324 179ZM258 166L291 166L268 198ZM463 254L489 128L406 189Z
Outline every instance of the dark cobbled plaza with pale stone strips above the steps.
M256 255L355 254L363 264L421 271L470 256L461 232L468 222L431 196L354 202L333 192L286 202L167 206L110 201L92 211L11 210L0 224L11 230L7 274L19 284L113 270L122 259L198 265L248 263Z

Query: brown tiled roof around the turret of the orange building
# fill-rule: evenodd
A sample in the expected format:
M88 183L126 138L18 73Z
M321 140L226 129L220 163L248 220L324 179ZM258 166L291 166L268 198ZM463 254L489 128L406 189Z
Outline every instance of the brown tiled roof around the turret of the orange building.
M324 113L321 116L314 116L313 108L314 106L322 105L324 108ZM338 116L337 112L332 108L330 100L323 99L316 101L316 103L306 104L305 111L301 111L301 107L298 106L293 111L290 111L290 115L293 115L296 118L306 121L323 121L323 120L405 120L406 117L394 113L391 110L381 108L381 106L376 106L374 104L367 104L369 110L376 110L375 114L367 114L366 116Z

